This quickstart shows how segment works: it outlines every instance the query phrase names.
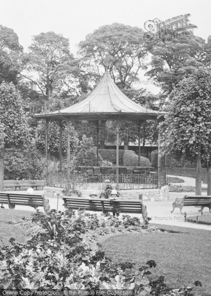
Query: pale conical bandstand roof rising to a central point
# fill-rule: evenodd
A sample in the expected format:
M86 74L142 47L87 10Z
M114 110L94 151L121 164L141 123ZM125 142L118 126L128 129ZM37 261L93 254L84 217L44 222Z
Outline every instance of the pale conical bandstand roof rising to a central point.
M35 114L45 119L156 119L158 111L146 109L129 99L114 83L109 72L105 72L97 87L83 101L68 108L51 113Z

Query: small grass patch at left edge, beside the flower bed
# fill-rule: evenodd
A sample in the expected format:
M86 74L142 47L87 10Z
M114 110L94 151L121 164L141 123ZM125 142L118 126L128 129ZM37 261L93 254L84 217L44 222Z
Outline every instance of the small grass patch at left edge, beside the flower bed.
M0 209L0 246L9 243L11 237L15 238L17 242L23 242L25 234L23 229L18 225L11 224L11 221L21 220L22 217L30 217L32 212Z

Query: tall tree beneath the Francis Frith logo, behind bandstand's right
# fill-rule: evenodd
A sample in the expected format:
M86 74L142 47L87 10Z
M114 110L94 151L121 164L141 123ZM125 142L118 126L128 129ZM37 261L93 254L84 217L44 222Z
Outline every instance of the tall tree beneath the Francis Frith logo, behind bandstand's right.
M168 96L185 74L203 65L205 40L196 36L175 38L172 42L157 40L148 44L147 49L152 56L146 75Z

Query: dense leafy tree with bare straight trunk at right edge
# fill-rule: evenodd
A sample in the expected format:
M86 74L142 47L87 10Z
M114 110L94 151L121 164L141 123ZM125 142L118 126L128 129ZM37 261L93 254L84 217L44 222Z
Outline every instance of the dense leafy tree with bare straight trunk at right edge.
M211 158L211 68L200 67L187 75L172 96L163 129L167 147L195 160L196 195L201 195L202 161L209 168Z

